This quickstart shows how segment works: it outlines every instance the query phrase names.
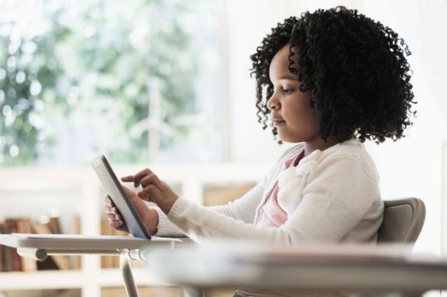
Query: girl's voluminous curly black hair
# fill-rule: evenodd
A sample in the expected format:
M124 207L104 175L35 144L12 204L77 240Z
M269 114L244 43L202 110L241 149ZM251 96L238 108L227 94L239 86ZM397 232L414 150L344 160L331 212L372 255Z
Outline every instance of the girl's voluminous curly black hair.
M337 6L300 18L288 17L268 34L250 56L256 77L258 122L268 127L267 100L273 94L269 68L273 56L285 45L296 47L298 66L288 70L298 76L300 91L310 92L309 104L320 117L318 134L333 135L337 142L356 137L360 142L404 137L412 125L413 72L405 55L408 45L397 33L380 22ZM277 138L276 128L272 129ZM281 143L281 142L280 142Z

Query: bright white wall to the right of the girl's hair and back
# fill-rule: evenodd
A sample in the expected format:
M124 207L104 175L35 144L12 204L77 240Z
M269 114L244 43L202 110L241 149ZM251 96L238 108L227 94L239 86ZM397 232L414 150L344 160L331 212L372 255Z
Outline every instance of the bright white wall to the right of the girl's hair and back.
M420 197L427 206L415 250L441 250L441 143L446 139L445 1L365 1L364 13L393 28L409 45L418 118L408 137L372 148L383 197ZM372 146L369 146L372 147Z

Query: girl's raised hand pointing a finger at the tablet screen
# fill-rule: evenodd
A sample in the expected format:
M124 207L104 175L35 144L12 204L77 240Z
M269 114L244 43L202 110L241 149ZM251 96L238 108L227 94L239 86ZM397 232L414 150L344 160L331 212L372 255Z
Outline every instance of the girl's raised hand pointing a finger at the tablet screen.
M179 197L167 183L161 181L149 169L143 169L135 175L124 176L121 180L133 182L135 188L141 185L142 190L138 192L138 197L145 201L154 202L166 214L169 213L170 208L173 207Z

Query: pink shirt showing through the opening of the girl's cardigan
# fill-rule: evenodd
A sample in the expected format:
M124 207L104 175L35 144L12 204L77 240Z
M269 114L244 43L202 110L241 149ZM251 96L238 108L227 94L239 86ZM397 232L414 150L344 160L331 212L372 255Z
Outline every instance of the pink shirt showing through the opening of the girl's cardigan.
M305 151L302 149L295 158L286 160L284 162L284 169L292 166L296 167L304 156L304 153ZM259 208L254 223L256 226L277 228L286 222L287 213L279 206L278 190L279 186L278 182L276 182L272 190L266 195L263 205Z

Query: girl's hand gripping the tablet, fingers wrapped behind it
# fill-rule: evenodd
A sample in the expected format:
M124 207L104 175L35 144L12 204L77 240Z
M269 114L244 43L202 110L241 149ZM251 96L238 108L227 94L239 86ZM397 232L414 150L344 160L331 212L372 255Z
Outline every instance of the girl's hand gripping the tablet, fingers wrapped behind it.
M145 201L140 199L135 192L130 190L129 188L122 186L124 192L126 192L127 197L129 197L135 211L140 216L142 223L145 225L149 234L154 235L157 231L157 226L159 224L159 215L152 208L149 208ZM110 227L117 231L124 231L129 233L129 229L127 229L126 223L124 219L119 213L118 208L113 203L110 197L105 197L104 200L104 211L106 213L106 217L109 220Z

